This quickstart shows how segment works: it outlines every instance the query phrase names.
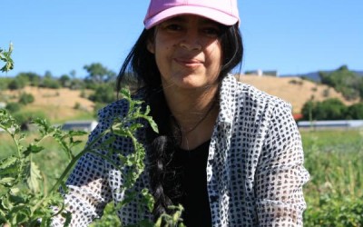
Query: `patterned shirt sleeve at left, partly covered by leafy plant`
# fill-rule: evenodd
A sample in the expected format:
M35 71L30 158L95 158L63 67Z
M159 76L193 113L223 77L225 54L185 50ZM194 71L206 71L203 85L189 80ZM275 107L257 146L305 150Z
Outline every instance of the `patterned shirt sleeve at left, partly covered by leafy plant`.
M107 121L101 121L90 134L88 143L102 133L108 124ZM94 145L100 143L101 140ZM104 160L93 153L85 153L78 160L65 185L65 210L72 213L70 226L88 226L93 219L102 216L105 205L112 200ZM54 217L52 226L64 226L64 221L64 218L58 215Z

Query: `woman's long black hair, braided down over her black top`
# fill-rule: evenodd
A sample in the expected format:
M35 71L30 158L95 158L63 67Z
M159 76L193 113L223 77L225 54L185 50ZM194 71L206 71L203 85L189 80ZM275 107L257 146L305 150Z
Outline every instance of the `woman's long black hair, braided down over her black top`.
M147 44L153 39L155 29L144 29L139 39L127 55L117 78L117 91L123 86L123 80L131 77L137 82L137 90L145 93L145 101L151 106L153 120L159 127L159 134L147 130L147 141L151 145L148 153L149 174L152 193L155 199L153 215L157 219L167 207L172 205L172 198L177 194L168 185L166 176L171 172L168 163L172 151L178 144L175 129L167 119L171 113L162 92L162 79L155 62L154 54L147 49ZM221 36L222 65L219 79L225 77L232 69L240 66L243 55L243 44L238 25L223 26Z

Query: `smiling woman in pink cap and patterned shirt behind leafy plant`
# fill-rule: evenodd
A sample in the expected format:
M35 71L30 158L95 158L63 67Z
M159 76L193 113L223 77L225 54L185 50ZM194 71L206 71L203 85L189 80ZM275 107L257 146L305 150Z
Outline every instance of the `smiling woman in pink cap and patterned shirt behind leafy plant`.
M135 185L150 189L155 207L140 213L131 202L118 212L123 224L182 203L187 226L302 225L309 173L299 131L289 104L229 74L243 53L239 23L236 0L151 1L117 85L131 72L159 127L139 134L147 171ZM127 108L123 100L105 107L89 141ZM128 153L132 143L118 138L113 148ZM72 223L86 225L107 202L123 201L122 184L111 164L84 155L67 182Z

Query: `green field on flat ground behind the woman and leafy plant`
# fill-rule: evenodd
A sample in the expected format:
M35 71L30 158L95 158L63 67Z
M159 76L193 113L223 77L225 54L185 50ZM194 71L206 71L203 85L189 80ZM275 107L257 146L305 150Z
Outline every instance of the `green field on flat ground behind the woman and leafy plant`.
M304 131L301 135L305 166L311 175L304 187L308 204L304 226L363 226L363 131ZM4 157L13 147L5 133L0 133L0 141L0 157ZM42 171L48 183L53 183L67 161L55 143L45 143L47 152L35 162L43 163ZM112 211L109 206L103 222L94 226L112 226L116 222Z

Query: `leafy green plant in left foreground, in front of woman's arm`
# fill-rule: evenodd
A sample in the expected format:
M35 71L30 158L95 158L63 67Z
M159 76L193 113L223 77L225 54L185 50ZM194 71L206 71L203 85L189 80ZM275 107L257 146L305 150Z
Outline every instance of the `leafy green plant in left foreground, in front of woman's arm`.
M20 126L16 123L15 119L8 114L4 109L0 110L0 128L10 136L10 141L13 146L7 146L10 151L5 151L4 157L0 159L0 224L9 223L12 226L37 226L39 220L42 220L41 226L48 226L54 217L54 210L52 207L58 207L60 209L56 214L62 214L66 218L65 225L70 220L70 214L64 212L64 200L60 195L58 188L64 187L65 178L72 170L74 163L83 156L85 153L93 153L94 155L100 155L103 159L112 163L114 168L123 172L124 166L127 166L130 171L124 173L123 190L125 192L125 200L116 204L117 208L122 208L128 202L142 196L140 201L140 208L146 209L145 211L152 212L153 198L147 189L143 189L142 192L136 192L133 189L133 185L139 178L140 174L144 170L143 160L145 159L145 151L141 143L135 138L135 133L144 125L139 123L140 118L146 120L152 126L152 129L157 132L157 126L152 121L149 107L142 111L142 102L133 101L131 94L127 91L122 91L123 97L129 102L128 114L121 118L121 116L115 116L110 129L101 133L94 138L91 143L87 143L85 148L76 153L74 146L83 143L78 140L78 136L83 136L83 132L64 132L60 127L50 126L43 119L35 119L33 123L38 127L38 133L33 135L28 134L28 137L24 133L21 133ZM108 141L101 143L99 146L95 146L105 133L110 133L111 137ZM33 138L29 138L29 136ZM132 140L134 152L124 156L119 151L113 151L109 147L109 144L115 139L114 136L128 137ZM45 147L43 142L47 138L53 138L55 143L66 154L68 163L61 175L55 176L55 183L49 184L47 179L54 179L54 176L45 176L40 165L35 163L35 156L39 153L45 152L48 147ZM30 143L24 143L25 139L31 141ZM8 140L9 141L9 140ZM4 143L2 143L4 144ZM111 149L110 153L103 155L97 153L97 149ZM114 153L118 153L118 157L122 164L114 163L111 156ZM42 166L44 160L41 161ZM54 166L54 162L51 163ZM49 177L49 178L48 178ZM108 209L110 209L108 207ZM111 211L114 210L111 208ZM173 207L174 210L172 216L162 214L156 223L152 223L148 220L142 220L139 226L161 226L162 223L169 223L167 226L183 226L180 223L182 207ZM107 222L114 222L114 217L107 217ZM95 223L97 224L97 223Z

